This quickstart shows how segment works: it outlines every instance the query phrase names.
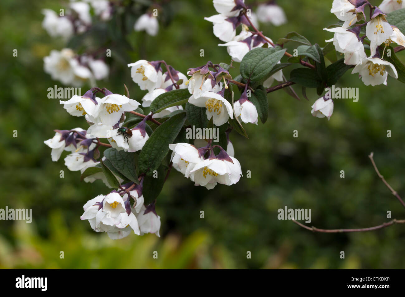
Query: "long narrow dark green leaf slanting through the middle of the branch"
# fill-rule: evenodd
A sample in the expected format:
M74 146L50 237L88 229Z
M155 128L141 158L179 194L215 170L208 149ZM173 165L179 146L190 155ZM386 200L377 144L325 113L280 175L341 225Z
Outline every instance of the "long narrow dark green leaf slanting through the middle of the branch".
M155 132L149 137L139 155L139 171L146 175L152 175L167 152L169 144L173 143L186 119L186 113L183 111L175 114L163 124L156 128Z

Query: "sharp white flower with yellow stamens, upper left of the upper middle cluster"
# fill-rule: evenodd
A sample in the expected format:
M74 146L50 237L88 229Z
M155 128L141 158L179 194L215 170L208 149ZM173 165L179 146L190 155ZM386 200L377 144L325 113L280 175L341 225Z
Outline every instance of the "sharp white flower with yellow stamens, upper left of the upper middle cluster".
M139 60L128 64L128 67L131 67L132 80L139 85L141 90L150 92L162 84L162 71L157 71L148 61Z

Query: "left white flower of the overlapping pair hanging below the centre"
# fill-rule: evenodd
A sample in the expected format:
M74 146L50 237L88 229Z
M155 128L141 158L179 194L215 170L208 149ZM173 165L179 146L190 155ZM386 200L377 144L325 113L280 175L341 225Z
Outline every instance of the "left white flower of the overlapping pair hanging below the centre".
M169 149L173 151L171 159L173 168L194 181L194 174L190 174L190 171L194 169L197 163L203 160L196 147L189 143L174 143L169 144Z

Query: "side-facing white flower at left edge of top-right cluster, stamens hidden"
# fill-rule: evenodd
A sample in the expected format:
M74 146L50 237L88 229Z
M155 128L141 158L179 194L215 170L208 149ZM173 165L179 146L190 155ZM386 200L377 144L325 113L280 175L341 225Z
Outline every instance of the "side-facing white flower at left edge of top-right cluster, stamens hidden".
M366 57L363 43L355 33L341 27L333 29L324 28L324 30L335 33L333 45L335 45L336 51L345 54L345 64L357 65ZM326 40L326 42L330 41L332 40Z

